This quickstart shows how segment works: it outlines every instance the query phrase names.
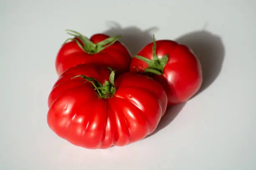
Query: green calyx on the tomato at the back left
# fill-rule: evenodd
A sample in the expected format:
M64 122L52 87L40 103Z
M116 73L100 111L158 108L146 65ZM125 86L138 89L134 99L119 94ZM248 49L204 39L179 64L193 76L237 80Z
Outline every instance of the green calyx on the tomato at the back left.
M74 36L73 38L68 38L64 43L68 42L69 40L74 40L77 42L77 45L84 50L84 52L87 52L89 54L96 54L105 48L109 47L110 45L114 44L118 38L120 37L119 35L109 37L101 42L98 42L97 44L93 43L89 38L85 37L84 35L80 34L79 32L73 31L73 30L66 30L67 34ZM77 39L82 41L80 43Z

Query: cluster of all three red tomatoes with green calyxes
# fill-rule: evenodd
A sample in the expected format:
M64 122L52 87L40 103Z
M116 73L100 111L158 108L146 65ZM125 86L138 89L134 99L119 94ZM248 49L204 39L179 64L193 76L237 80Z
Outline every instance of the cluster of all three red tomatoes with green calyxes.
M68 31L73 37L56 57L47 122L74 145L104 149L141 140L168 106L187 101L202 84L199 60L175 41L154 38L131 57L119 36Z

